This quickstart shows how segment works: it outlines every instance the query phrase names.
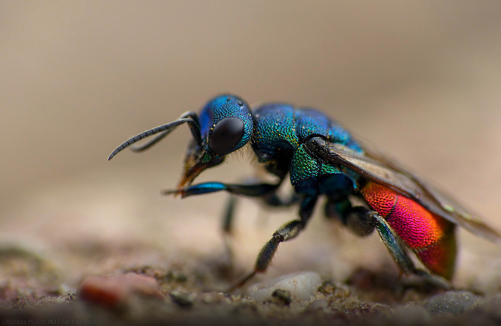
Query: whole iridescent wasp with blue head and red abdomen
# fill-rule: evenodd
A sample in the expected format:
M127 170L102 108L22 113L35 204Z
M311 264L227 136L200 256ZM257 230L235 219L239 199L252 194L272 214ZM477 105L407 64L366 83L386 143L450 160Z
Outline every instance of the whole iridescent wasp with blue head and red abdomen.
M299 218L282 225L261 249L254 271L265 272L280 242L296 237L308 223L319 196L327 197L328 217L360 236L378 232L398 267L448 286L456 258L455 226L494 242L501 235L468 213L457 202L377 151L355 140L340 124L311 108L284 103L264 104L251 111L234 95L211 99L197 115L186 112L178 120L147 130L120 145L108 160L135 142L156 135L141 146L142 151L188 124L193 140L187 148L184 171L177 189L167 193L181 197L227 191L261 197L273 206L299 203ZM204 182L191 185L205 169L221 164L245 144L251 144L258 162L278 177L277 183L224 184ZM281 199L277 191L289 174L295 196ZM366 203L353 206L349 196ZM229 223L230 217L228 217ZM416 268L414 253L427 270Z

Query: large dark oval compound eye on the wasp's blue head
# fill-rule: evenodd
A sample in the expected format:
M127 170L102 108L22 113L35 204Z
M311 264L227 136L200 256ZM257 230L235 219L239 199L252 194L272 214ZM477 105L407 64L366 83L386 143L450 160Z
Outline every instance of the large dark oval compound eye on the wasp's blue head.
M242 136L243 121L238 118L224 118L212 130L209 139L210 150L217 155L228 154Z

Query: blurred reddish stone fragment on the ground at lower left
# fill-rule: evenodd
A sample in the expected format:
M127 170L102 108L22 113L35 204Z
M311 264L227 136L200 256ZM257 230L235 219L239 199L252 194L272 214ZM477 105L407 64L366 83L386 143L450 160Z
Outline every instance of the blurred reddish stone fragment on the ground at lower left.
M163 298L155 278L132 272L111 276L88 276L80 284L80 293L84 299L106 307L126 303L135 294Z

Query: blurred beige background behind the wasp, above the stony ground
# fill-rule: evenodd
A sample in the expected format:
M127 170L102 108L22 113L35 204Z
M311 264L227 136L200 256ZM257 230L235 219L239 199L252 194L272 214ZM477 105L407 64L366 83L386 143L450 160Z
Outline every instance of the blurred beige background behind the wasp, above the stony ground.
M501 230L500 62L498 1L3 1L0 237L47 251L79 241L221 250L225 194L159 194L179 177L187 128L106 161L221 92L320 108ZM237 181L253 173L248 157L197 180ZM294 214L242 200L240 263L250 268ZM316 215L270 274L321 266L343 277L348 261L388 261L376 236ZM498 277L499 248L459 237L456 281Z

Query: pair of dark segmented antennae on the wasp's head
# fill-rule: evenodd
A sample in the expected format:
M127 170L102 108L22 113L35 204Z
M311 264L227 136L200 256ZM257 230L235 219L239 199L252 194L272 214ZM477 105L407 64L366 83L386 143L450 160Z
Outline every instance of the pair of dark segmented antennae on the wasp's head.
M198 143L200 143L201 142L201 135L200 135L200 128L198 127L198 117L196 116L196 113L188 111L188 112L183 113L181 115L181 117L179 117L179 119L177 119L175 121L169 122L165 125L155 127L153 129L150 129L150 130L146 130L145 132L142 132L139 135L136 135L136 136L130 138L129 140L124 142L122 145L118 146L110 154L110 156L108 157L108 161L111 160L113 157L115 157L115 155L117 155L118 153L120 153L121 151L123 151L124 149L129 147L130 145L132 145L132 144L134 144L134 143L136 143L136 142L138 142L146 137L150 137L150 136L153 136L155 134L161 133L160 135L153 138L151 141L147 142L146 144L144 144L142 146L138 146L136 148L132 148L132 149L136 152L140 152L140 151L143 151L143 150L151 147L152 145L154 145L158 141L160 141L162 138L167 136L172 130L174 130L174 128L176 128L179 125L182 125L183 123L188 123L191 134L193 135L193 138L195 138L195 140Z

